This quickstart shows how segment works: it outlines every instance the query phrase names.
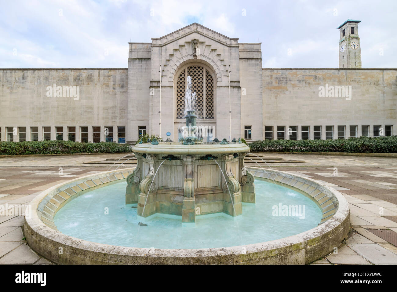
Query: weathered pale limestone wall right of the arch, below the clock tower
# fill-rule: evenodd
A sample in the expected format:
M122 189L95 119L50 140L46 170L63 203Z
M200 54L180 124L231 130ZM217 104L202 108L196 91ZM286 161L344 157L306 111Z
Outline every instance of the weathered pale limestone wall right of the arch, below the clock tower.
M325 126L333 125L334 139L337 126L356 125L358 136L362 125L397 125L397 69L296 69L263 68L263 125L274 126L273 137L277 137L277 126ZM327 85L328 84L328 85ZM350 97L319 97L319 87L351 86ZM286 139L288 136L285 135Z

